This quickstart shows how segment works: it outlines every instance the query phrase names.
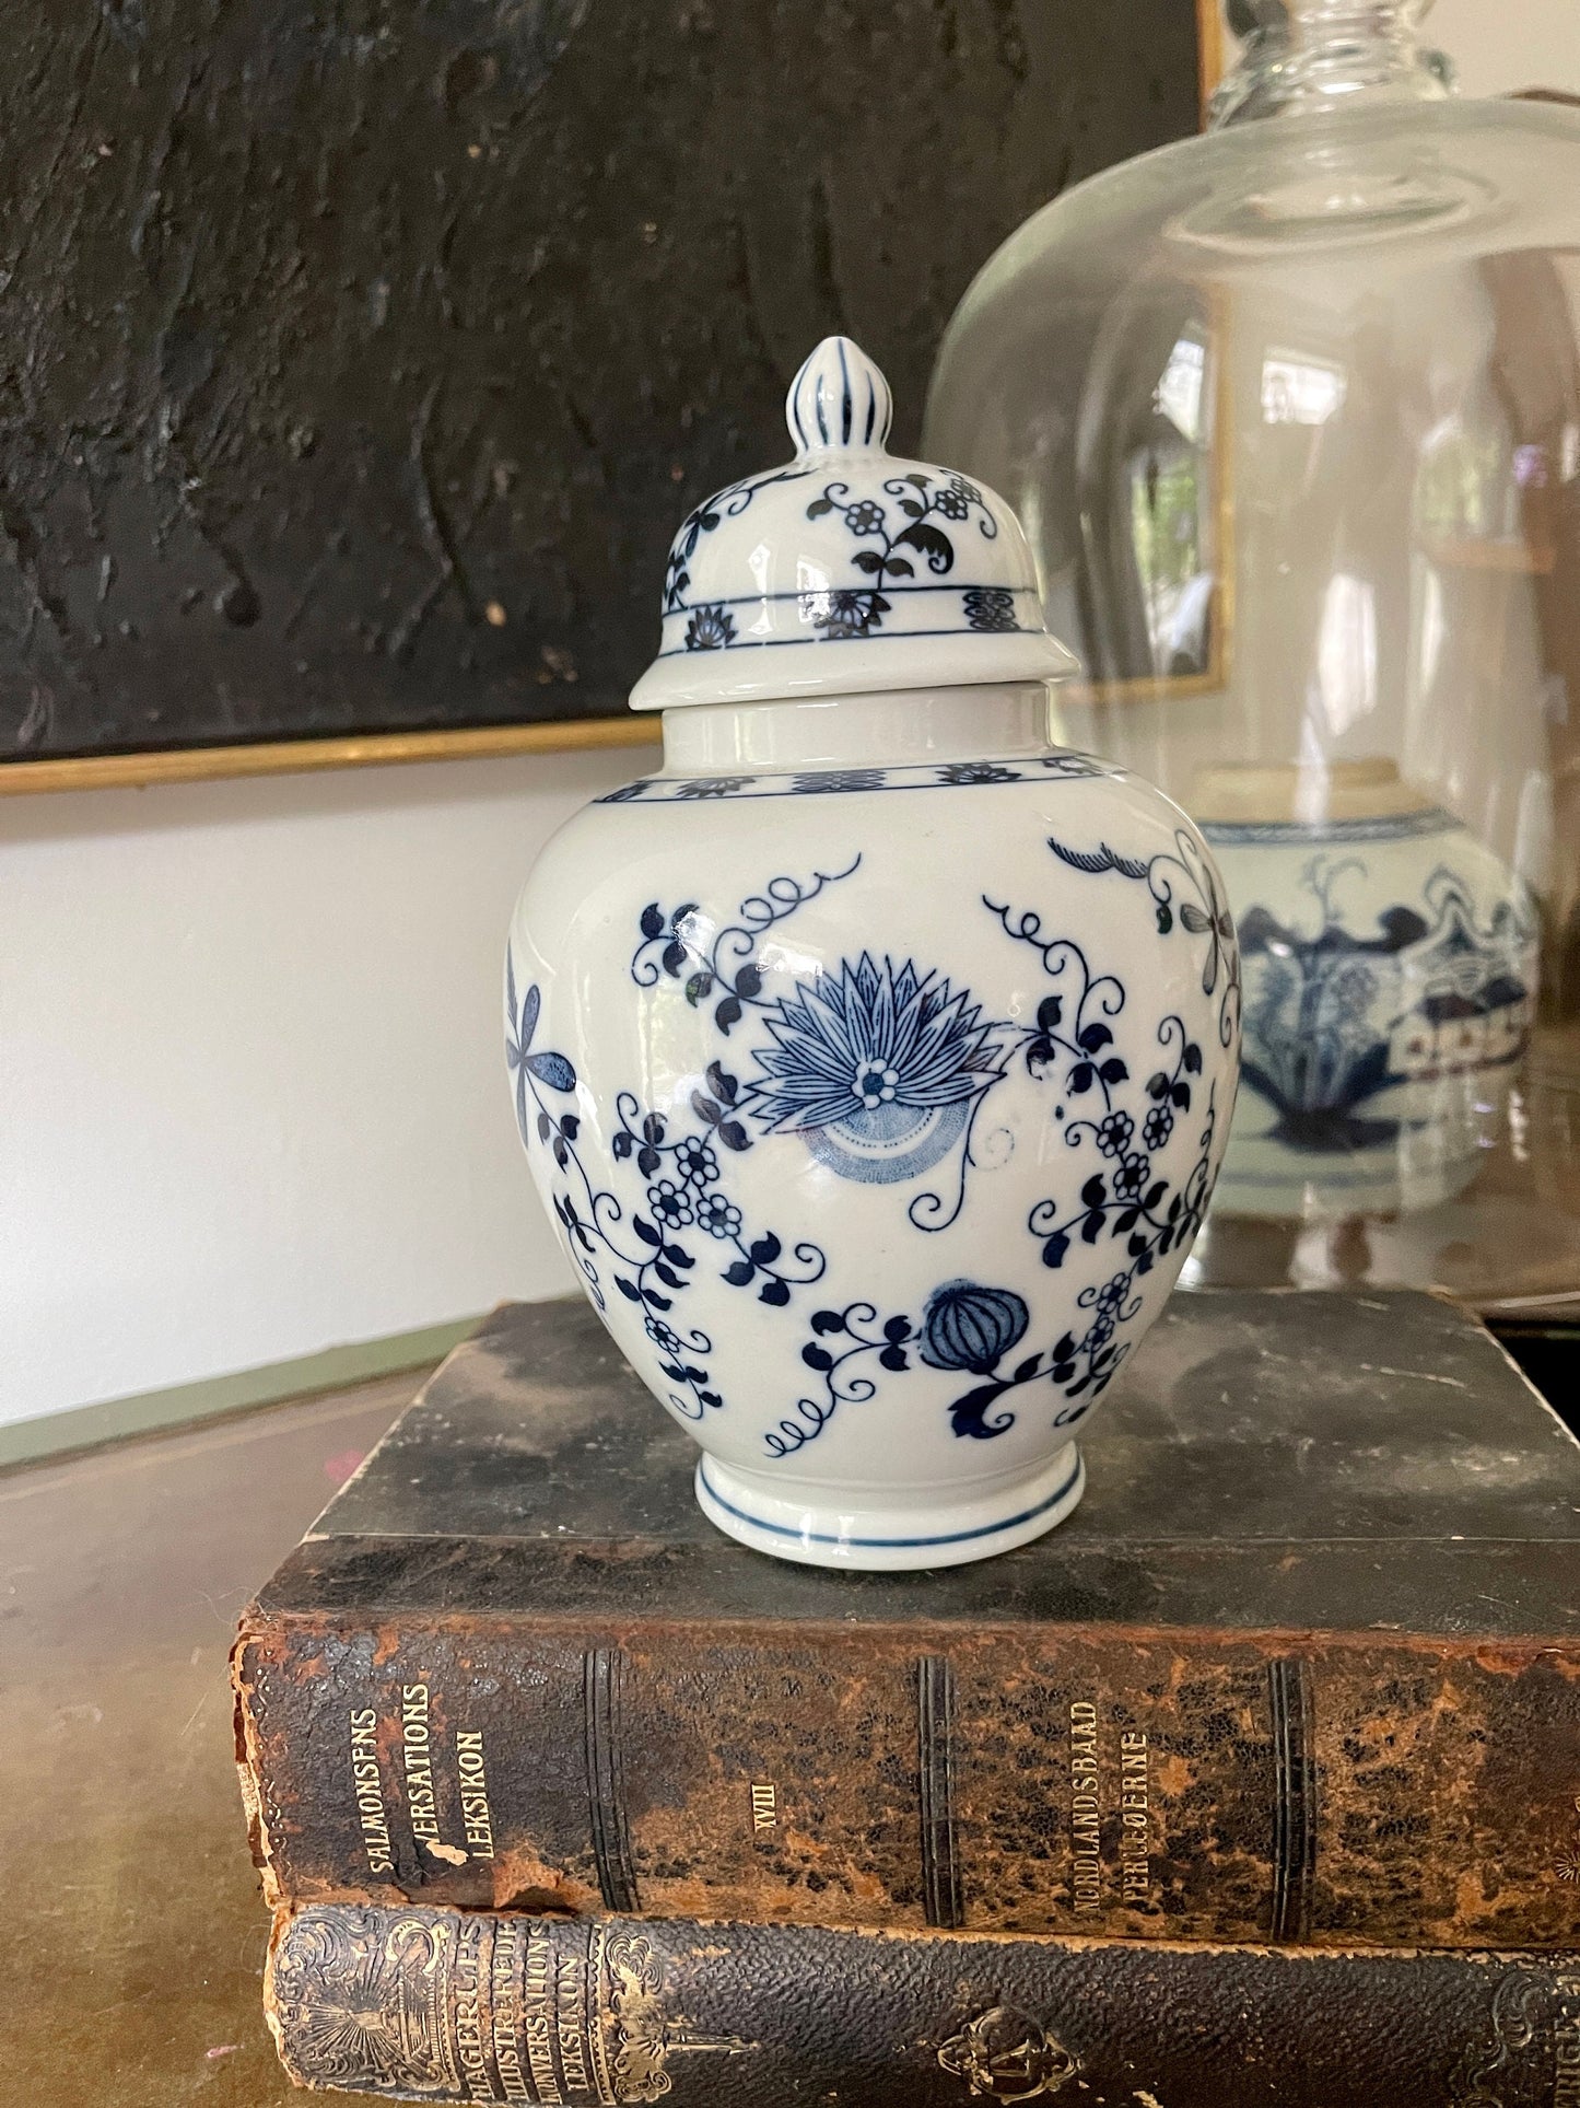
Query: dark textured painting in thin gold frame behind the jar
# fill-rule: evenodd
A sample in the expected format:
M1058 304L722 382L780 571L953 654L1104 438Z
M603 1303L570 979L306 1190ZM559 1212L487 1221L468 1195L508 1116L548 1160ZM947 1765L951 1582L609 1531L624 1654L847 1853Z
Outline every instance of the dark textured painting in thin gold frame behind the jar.
M0 793L655 738L670 533L809 344L921 405L1205 51L1190 0L6 11Z

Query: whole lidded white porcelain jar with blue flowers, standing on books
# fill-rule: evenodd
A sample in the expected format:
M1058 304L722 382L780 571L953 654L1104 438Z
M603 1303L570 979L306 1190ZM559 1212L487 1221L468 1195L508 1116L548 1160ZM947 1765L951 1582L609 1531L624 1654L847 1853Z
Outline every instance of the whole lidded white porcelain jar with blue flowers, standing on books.
M794 460L680 527L634 708L510 932L520 1134L731 1537L944 1566L1081 1499L1228 1138L1239 951L1201 835L1049 740L992 491L885 451L845 337Z

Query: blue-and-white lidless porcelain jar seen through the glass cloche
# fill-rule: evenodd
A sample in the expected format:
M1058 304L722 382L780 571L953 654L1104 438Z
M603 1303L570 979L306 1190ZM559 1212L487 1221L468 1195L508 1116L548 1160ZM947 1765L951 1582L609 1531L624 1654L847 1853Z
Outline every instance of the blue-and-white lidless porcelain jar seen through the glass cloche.
M1536 917L1468 828L1411 812L1205 820L1245 955L1245 1062L1218 1191L1232 1214L1411 1212L1502 1126Z

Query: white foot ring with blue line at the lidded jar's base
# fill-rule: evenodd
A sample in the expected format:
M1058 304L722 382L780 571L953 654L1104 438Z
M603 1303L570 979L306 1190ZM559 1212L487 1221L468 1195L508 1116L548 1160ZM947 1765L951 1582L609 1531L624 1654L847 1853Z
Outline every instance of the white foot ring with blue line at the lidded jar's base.
M866 1573L965 1566L1011 1551L1064 1522L1085 1486L1074 1442L990 1492L931 1507L860 1507L828 1486L796 1488L716 1457L697 1459L697 1505L727 1537L777 1560Z

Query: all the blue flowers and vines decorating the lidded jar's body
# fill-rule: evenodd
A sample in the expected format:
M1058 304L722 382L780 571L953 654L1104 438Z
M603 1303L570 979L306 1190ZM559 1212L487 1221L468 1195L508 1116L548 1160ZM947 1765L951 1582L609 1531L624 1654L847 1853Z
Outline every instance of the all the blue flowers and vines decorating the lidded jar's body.
M1239 997L1235 930L1190 837L1182 831L1178 856L1150 860L1121 858L1106 845L1049 847L1091 877L1117 873L1148 885L1159 934L1199 946L1201 989L1216 999L1228 1046ZM1138 1058L1146 1041L1133 1035L1121 1050L1127 991L1119 974L1095 970L1083 944L1049 932L1039 911L986 894L988 925L1041 963L1045 993L1030 1018L994 1018L925 961L872 949L769 989L769 974L784 968L769 968L765 938L860 864L855 854L832 871L769 879L727 921L697 900L643 909L632 980L674 987L710 1016L720 1041L739 1031L746 1048L729 1067L725 1058L708 1062L685 1117L643 1107L632 1092L617 1096L613 1157L640 1180L630 1202L584 1168L577 1113L560 1102L575 1094L575 1071L535 1043L539 995L531 987L518 1001L512 965L510 1067L522 1136L533 1132L560 1174L554 1210L594 1301L605 1307L609 1282L640 1309L670 1404L702 1419L723 1406L708 1372L712 1343L683 1318L704 1254L716 1254L716 1277L727 1286L777 1309L828 1271L817 1244L786 1248L773 1229L748 1221L731 1191L731 1162L765 1136L792 1134L841 1176L868 1185L921 1180L952 1157L952 1183L925 1187L904 1208L914 1229L942 1229L961 1214L984 1100L1011 1075L1024 1077L1047 1092L1049 1124L1074 1162L1068 1185L1026 1216L1034 1240L1028 1265L1060 1271L1077 1250L1108 1254L1074 1296L1079 1322L1039 1341L1020 1288L967 1277L942 1280L912 1309L885 1311L876 1299L813 1309L801 1362L815 1381L763 1442L769 1459L794 1457L841 1408L914 1368L961 1377L948 1404L959 1438L1003 1436L1032 1393L1047 1391L1055 1395L1053 1427L1072 1427L1129 1353L1146 1275L1205 1214L1220 1107L1216 1086L1203 1094L1201 1043L1169 1014L1150 1027L1150 1060ZM1182 1147L1190 1149L1184 1168L1176 1164Z

